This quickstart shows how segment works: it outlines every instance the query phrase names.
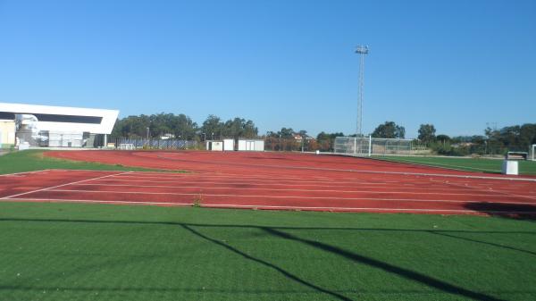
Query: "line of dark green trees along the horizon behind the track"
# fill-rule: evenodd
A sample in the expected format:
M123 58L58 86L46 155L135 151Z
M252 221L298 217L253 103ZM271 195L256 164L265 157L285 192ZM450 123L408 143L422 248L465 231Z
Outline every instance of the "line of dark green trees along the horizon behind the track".
M405 138L405 127L394 121L385 121L370 134L373 138ZM208 115L201 125L185 114L157 113L131 115L118 119L113 127L113 138L176 138L204 141L222 138L263 138L265 148L274 151L333 151L336 137L342 132L322 131L316 137L306 130L281 128L259 135L255 122L236 117L223 121L216 115ZM350 135L356 136L356 135ZM439 155L502 155L510 151L527 151L536 144L536 123L507 126L502 129L487 128L484 135L449 137L436 135L433 124L421 124L414 145L430 148Z

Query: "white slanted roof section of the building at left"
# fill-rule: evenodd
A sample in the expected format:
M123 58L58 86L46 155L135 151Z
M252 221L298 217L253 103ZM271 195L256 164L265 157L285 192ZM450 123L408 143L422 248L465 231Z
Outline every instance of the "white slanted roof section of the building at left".
M69 106L0 103L0 113L32 114L39 130L110 134L118 110L88 109Z

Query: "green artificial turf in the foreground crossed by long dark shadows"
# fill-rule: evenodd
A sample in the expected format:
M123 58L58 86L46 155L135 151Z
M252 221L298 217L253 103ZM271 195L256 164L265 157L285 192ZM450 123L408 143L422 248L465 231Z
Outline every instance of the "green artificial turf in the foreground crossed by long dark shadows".
M534 300L536 223L0 203L0 300Z

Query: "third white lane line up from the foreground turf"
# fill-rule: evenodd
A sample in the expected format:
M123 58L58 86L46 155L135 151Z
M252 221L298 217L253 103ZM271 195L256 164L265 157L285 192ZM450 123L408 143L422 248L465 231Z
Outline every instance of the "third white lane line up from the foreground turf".
M406 194L406 195L440 195L440 196L494 196L498 191L496 190L482 190L482 192L488 192L486 194L475 193L445 193L445 192L415 192L415 191L373 191L373 190L336 190L336 189L299 189L299 188L237 188L237 187L200 187L200 186L170 186L170 185L130 185L130 184L92 184L92 183L80 183L73 184L73 186L97 186L97 187L125 187L125 188L188 188L188 189L232 189L232 190L270 190L270 191L299 191L299 192L335 192L335 193L370 193L370 194ZM403 188L397 188L403 189ZM415 188L412 188L415 190ZM471 189L467 189L473 191ZM441 191L445 191L442 189ZM508 194L508 196L516 196ZM517 196L526 197L536 200L536 197L532 196Z

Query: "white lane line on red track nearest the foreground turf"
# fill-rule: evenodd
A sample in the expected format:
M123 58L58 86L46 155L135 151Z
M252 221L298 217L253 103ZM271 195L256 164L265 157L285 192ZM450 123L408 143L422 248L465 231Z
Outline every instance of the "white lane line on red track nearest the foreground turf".
M125 204L125 205L170 205L185 206L193 203L168 203L150 201L102 201L84 199L63 199L63 198L9 198L8 202L57 202L57 203L99 203L99 204ZM536 214L536 211L498 211L498 210L464 210L464 209L423 209L423 208L377 208L377 207L325 207L325 206L289 206L289 205L241 205L241 204L202 204L202 207L226 207L226 208L266 208L283 210L332 210L332 211L385 211L385 212L437 212L437 213L503 213L503 214Z

